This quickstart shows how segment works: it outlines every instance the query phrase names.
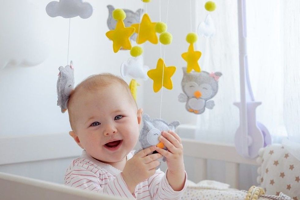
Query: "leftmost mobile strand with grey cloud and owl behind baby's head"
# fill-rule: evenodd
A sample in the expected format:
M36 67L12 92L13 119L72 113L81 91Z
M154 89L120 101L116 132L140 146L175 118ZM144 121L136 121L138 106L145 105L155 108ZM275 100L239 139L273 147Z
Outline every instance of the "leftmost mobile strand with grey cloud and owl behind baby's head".
M57 80L57 105L61 107L61 112L66 112L68 108L68 100L71 91L74 89L74 68L73 62L69 64L69 42L70 42L70 24L71 18L81 17L87 19L92 16L93 8L87 2L82 0L59 0L52 1L47 4L46 12L50 17L61 16L69 18L69 34L68 34L68 52L67 52L67 65L60 66ZM68 65L69 64L69 65Z

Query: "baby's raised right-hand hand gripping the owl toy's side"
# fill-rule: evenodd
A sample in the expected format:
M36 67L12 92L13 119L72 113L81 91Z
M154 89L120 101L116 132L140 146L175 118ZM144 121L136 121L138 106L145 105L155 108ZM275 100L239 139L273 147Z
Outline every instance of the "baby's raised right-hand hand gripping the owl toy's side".
M183 147L180 137L174 131L163 131L162 136L159 136L159 141L168 148L168 151L161 148L156 150L167 158L168 170L171 173L184 173Z

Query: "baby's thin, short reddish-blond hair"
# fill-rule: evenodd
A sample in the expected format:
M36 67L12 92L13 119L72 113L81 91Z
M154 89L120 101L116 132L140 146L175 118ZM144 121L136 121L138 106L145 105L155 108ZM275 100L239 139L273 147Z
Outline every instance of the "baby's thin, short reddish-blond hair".
M75 101L77 92L79 90L94 91L95 89L99 89L101 87L107 87L112 84L120 84L121 86L123 86L128 93L128 97L130 101L137 107L137 103L131 94L128 84L121 77L110 73L93 74L91 76L88 76L83 81L81 81L81 83L79 83L70 94L69 101L68 101L68 113L69 113L69 121L72 130L74 130L73 129L74 127L72 126L74 114L72 112L71 107L73 102Z

